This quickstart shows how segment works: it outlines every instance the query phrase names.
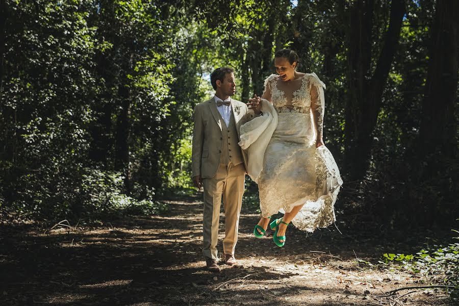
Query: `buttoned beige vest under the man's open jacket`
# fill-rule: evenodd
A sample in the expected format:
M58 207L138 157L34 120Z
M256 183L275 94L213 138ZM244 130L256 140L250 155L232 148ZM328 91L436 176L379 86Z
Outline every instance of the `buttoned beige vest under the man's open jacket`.
M221 148L221 159L220 164L228 165L230 162L233 165L239 165L244 160L242 158L241 147L239 146L239 137L238 131L236 130L236 124L234 122L234 114L231 112L230 124L226 126L225 120L221 117L220 112L218 112L220 117L221 125L221 137L222 137L222 148Z

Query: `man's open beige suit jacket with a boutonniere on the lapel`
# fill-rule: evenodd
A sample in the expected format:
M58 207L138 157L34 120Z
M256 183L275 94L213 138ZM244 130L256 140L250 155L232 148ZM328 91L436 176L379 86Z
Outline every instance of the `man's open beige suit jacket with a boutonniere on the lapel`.
M254 112L245 103L231 99L238 138L240 126L254 117ZM220 166L223 147L221 122L214 97L199 103L194 108L193 146L191 151L192 176L200 175L202 179L210 179L217 173ZM239 141L240 139L238 139ZM244 165L247 164L247 153L242 151Z

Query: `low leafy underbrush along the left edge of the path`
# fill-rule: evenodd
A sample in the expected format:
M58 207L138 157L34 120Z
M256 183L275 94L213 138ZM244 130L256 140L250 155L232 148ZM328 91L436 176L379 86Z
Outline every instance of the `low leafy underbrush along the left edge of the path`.
M29 182L32 179L35 181ZM24 182L18 181L20 186L38 187L22 188L8 205L0 199L0 213L7 223L52 223L63 219L91 223L125 215L154 215L168 209L158 200L154 188L135 184L126 194L123 180L119 172L90 168L75 173L72 184L61 180L50 186L40 184L36 177L24 177Z

